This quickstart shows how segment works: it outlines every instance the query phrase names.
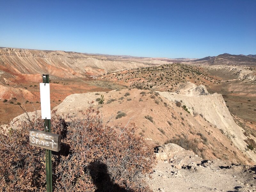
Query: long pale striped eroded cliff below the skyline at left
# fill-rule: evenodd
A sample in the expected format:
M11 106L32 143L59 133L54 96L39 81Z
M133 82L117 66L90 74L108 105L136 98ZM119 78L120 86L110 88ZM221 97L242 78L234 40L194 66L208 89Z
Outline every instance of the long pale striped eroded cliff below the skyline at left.
M0 49L0 70L12 75L47 73L61 78L75 78L150 65L154 64L76 52Z

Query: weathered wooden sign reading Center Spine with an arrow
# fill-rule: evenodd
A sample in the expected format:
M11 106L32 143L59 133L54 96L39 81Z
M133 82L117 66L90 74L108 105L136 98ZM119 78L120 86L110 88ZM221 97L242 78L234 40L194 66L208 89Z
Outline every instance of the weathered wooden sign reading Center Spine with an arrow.
M52 151L60 151L61 135L38 131L35 129L29 130L29 144L36 147L49 149Z

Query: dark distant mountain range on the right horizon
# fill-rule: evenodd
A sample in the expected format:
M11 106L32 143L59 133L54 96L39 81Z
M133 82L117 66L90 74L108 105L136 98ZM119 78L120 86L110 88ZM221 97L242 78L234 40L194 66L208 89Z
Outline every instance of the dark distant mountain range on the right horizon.
M218 56L208 56L194 61L207 61L210 65L256 65L256 55L231 55L228 53Z

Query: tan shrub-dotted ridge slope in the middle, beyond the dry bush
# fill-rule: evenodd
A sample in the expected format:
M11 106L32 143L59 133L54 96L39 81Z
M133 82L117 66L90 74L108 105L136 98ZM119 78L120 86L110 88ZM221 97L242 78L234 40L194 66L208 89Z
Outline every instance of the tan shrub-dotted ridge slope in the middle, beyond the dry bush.
M98 102L104 95L103 105ZM173 138L187 138L194 143L193 150L206 159L232 159L233 163L252 164L221 131L201 116L193 116L157 92L148 90L117 90L72 94L54 108L57 114L70 118L82 117L80 111L89 105L99 108L104 123L109 125L135 123L136 132L148 140L152 147ZM15 128L19 121L9 126ZM192 149L191 149L192 150Z

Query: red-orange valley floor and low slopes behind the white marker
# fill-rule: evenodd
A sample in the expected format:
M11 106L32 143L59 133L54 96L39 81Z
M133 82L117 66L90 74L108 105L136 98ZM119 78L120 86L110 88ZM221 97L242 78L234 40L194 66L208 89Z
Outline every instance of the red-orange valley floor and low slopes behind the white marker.
M0 116L0 125L7 124L14 117L24 113L22 108L28 112L40 109L39 82L42 82L41 75L36 82L13 80L9 85L0 84L0 114L3 114ZM112 82L92 79L52 79L50 83L51 107L59 105L70 94L123 88L125 87Z

